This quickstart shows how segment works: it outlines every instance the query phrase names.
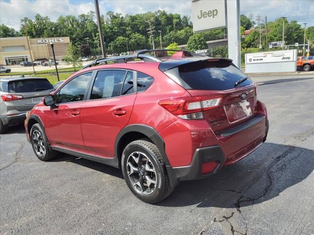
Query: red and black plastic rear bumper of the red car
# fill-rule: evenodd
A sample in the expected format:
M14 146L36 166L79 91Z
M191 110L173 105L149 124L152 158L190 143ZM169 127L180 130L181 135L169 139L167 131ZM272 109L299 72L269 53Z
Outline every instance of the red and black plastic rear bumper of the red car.
M219 171L224 165L234 164L254 152L266 140L268 120L265 119L266 116L258 115L242 125L236 126L236 128L217 133L217 136L220 137L218 142L220 144L197 148L189 165L179 167L166 166L171 185L176 185L179 181L205 178ZM224 147L231 145L236 138L241 139L254 130L256 132L262 131L262 136L257 135L256 138L248 138L245 144L237 145L226 154L227 151ZM209 162L215 162L217 166L211 172L202 174L202 164Z

